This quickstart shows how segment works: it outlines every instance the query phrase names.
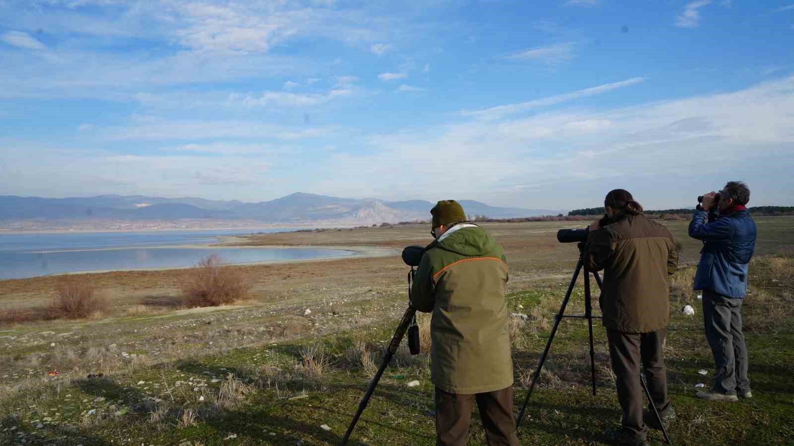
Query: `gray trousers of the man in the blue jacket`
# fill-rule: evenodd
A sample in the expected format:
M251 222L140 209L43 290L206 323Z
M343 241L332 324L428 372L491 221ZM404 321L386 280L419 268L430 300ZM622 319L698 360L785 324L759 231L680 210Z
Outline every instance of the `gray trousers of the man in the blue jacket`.
M742 299L703 290L703 325L714 355L714 391L749 392L747 345L742 333Z

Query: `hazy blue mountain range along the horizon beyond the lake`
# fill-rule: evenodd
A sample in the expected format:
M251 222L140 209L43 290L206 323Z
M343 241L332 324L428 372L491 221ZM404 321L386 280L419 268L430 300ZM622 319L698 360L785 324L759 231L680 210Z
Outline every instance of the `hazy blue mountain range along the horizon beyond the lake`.
M533 210L488 206L460 200L469 215L492 218L556 215L558 210ZM161 198L143 195L99 195L87 198L39 198L0 196L0 220L179 220L245 219L270 223L371 225L398 221L427 220L434 203L424 200L387 202L295 193L269 202Z

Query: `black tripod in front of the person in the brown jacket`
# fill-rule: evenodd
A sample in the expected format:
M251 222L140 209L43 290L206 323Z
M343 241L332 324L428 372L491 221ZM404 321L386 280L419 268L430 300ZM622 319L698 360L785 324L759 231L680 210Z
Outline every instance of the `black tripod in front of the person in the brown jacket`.
M557 316L554 319L554 326L551 329L551 333L549 334L549 340L546 341L545 349L543 350L543 354L541 355L540 363L538 363L538 368L535 369L534 375L532 375L532 383L530 383L530 390L526 393L526 398L524 399L524 404L521 407L521 412L518 413L518 419L515 423L515 429L521 425L521 420L524 417L524 410L526 410L526 406L530 402L530 397L532 396L532 390L535 387L535 384L538 383L538 379L541 375L541 369L543 368L543 363L545 363L546 357L549 355L549 350L551 349L551 343L554 340L554 335L557 334L557 327L560 326L560 321L562 321L563 317L576 317L580 319L587 319L588 320L588 331L590 337L590 371L591 371L591 380L592 380L592 389L593 389L593 396L595 396L595 352L593 350L593 318L600 318L600 316L593 316L592 315L592 295L590 293L590 273L592 272L593 277L595 277L595 283L598 284L599 289L603 288L601 284L601 278L597 271L588 271L587 265L584 264L584 252L580 249L579 252L579 262L576 263L576 269L573 271L573 276L571 278L571 282L568 285L568 290L565 292L565 298L562 299L562 305L560 306L560 311L557 313ZM571 293L573 291L573 287L576 286L576 279L579 279L579 273L584 269L584 314L565 314L565 307L568 306L568 301L571 298ZM642 383L642 390L645 390L646 397L648 398L648 406L653 408L653 414L656 416L659 425L661 426L661 432L665 435L665 441L667 444L670 443L670 437L667 435L667 429L665 426L661 424L661 417L659 416L659 412L656 409L656 405L653 404L653 398L650 396L650 391L648 390L648 385L645 382L645 378L640 375L640 383Z

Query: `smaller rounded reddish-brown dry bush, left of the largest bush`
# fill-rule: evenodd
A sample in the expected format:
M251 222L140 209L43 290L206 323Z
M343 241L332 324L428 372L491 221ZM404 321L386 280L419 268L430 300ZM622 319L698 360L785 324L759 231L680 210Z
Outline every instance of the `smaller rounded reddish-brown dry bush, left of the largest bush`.
M47 309L47 317L102 317L108 311L106 299L95 295L96 290L85 276L64 275L56 279L55 297Z

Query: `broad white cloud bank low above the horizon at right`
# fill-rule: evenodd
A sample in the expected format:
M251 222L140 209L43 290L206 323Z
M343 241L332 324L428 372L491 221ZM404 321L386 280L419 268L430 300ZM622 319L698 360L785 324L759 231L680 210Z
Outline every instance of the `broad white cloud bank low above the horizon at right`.
M724 183L724 176L734 175L730 172L739 172L751 187L766 183L770 191L781 190L777 197L790 202L780 186L788 177L767 172L788 175L794 168L787 156L794 150L792 115L794 76L727 94L400 129L351 141L355 151L338 153L323 169L361 175L318 177L314 190L413 198L423 190L447 190L448 179L434 172L449 161L427 156L443 147L455 154L458 175L476 179L458 184L457 196L490 197L489 202L499 197L513 206L571 209L602 202L603 194L615 187L637 189L635 196L649 209L682 206L701 184ZM714 153L720 154L720 163L692 162ZM483 165L488 165L486 176ZM671 176L675 184L665 185ZM693 184L699 188L695 192ZM759 205L776 199L756 196Z

